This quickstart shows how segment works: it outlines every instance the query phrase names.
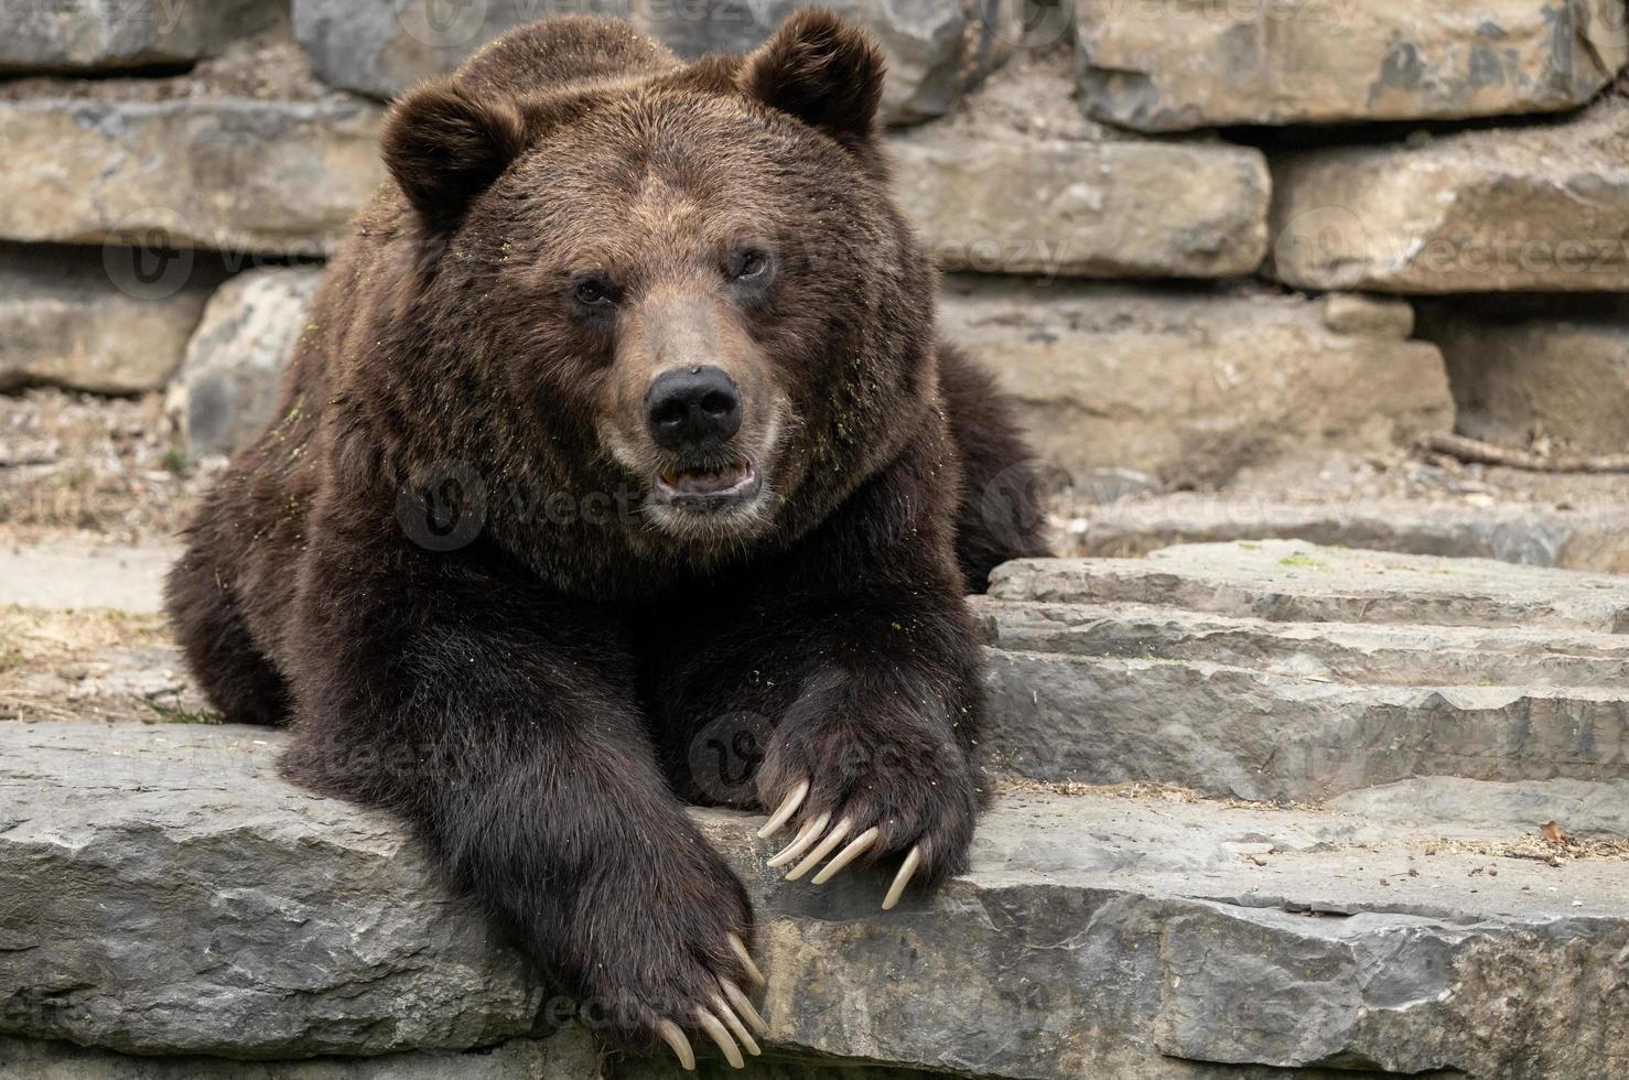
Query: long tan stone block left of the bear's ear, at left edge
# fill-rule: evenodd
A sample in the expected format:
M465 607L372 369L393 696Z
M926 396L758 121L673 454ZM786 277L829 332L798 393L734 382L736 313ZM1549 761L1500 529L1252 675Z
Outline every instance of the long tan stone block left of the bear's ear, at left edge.
M0 96L0 238L326 254L384 179L373 103L153 81L169 96L134 85L127 96L124 80L98 83L101 96L52 80ZM155 274L184 279L192 262L204 257Z

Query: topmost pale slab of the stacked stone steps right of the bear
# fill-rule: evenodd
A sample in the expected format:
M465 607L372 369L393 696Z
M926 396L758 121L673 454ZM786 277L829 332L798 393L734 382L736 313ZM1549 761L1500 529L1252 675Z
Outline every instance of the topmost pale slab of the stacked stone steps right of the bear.
M1318 547L1183 544L1148 559L1034 559L995 570L999 599L1144 603L1276 622L1556 627L1629 634L1629 578Z

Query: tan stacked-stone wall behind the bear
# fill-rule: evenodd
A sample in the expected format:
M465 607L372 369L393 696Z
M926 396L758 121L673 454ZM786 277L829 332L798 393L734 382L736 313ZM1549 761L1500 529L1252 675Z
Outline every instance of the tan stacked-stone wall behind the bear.
M344 241L383 181L393 93L536 15L614 11L699 55L751 47L790 7L31 5L0 42L0 383L137 393L174 376L182 445L231 451L292 340L267 319L300 323L314 277L235 285L202 326L200 298ZM1622 448L1629 329L1590 300L1629 290L1622 0L839 7L888 54L899 194L955 274L946 321L1069 482L1225 484L1455 425ZM101 282L83 277L96 248ZM1585 295L1590 360L1565 391L1548 386L1556 365L1479 345L1512 340L1497 303L1455 300L1508 292ZM1425 295L1450 314L1414 334L1409 298ZM125 308L150 327L142 347L83 344ZM1535 311L1538 352L1575 340L1569 311Z

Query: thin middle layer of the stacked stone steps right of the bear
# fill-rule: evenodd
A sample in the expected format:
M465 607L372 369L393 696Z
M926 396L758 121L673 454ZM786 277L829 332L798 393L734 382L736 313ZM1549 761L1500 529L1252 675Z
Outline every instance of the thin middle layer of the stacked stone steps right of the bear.
M990 648L1199 660L1380 686L1629 686L1629 637L1528 629L1274 622L1153 604L973 598Z

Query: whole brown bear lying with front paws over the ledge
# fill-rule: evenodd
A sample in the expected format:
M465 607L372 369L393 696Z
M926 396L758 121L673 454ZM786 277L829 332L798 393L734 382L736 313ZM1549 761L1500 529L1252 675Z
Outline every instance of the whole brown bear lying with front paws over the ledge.
M686 1065L686 1031L756 1052L761 976L684 803L772 810L788 876L898 868L885 906L961 870L964 595L1043 552L1007 406L935 334L881 81L805 11L689 65L533 23L407 93L168 583L228 720L287 723L293 779L399 814Z

